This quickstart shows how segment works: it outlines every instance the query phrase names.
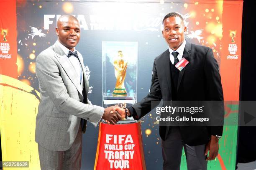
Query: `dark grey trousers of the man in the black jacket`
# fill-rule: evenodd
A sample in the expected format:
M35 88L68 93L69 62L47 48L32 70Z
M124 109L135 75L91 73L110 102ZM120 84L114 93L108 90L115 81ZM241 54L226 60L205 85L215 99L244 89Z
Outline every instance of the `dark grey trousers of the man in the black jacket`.
M205 145L189 146L180 135L179 127L172 127L165 141L161 140L163 170L180 170L182 149L184 147L188 170L207 170Z

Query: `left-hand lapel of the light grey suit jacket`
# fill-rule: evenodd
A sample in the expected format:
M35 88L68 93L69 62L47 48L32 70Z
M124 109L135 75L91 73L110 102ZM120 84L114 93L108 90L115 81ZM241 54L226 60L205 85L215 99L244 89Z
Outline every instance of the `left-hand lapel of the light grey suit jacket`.
M57 43L54 44L54 51L57 55L56 59L59 61L64 71L67 73L67 76L77 88L77 91L79 91L79 93L83 95L81 86L79 85L80 80L78 79L78 76L76 75L77 73L72 66L72 63L69 61L69 58L67 58L66 54L64 53L64 51L62 51Z

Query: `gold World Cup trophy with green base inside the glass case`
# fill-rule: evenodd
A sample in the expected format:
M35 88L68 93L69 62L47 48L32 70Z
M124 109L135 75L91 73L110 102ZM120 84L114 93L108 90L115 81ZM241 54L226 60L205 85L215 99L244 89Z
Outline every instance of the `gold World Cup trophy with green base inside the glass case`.
M127 91L125 90L124 80L126 76L127 61L123 59L122 51L118 51L118 57L113 62L115 68L116 84L115 90L113 91L113 96L127 96Z

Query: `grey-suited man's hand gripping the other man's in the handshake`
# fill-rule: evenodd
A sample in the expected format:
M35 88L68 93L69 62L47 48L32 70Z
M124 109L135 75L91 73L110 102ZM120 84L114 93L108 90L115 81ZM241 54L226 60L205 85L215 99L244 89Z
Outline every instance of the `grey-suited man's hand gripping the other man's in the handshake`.
M106 120L110 124L116 124L116 122L122 119L120 114L118 114L118 112L114 112L113 109L114 106L105 108L102 116L102 119Z

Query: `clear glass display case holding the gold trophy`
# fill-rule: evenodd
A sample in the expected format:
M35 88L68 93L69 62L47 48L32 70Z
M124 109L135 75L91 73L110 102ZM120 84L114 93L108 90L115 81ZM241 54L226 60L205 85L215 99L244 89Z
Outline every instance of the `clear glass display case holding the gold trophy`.
M137 61L137 42L102 42L103 107L128 107L136 103Z

